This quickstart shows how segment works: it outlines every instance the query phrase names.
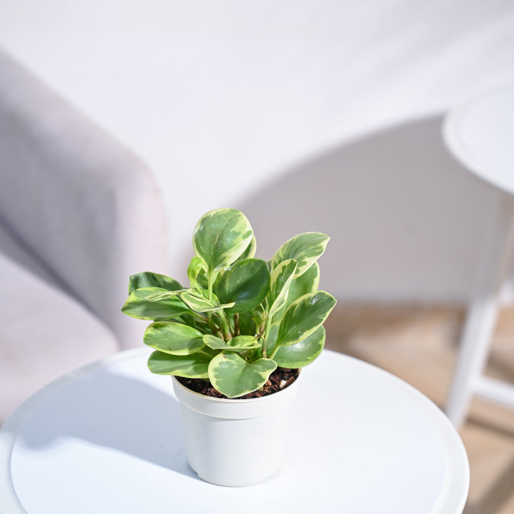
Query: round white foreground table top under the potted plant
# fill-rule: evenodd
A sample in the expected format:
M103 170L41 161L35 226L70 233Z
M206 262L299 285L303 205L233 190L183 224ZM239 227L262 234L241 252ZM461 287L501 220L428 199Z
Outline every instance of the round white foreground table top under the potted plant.
M148 355L86 366L11 416L0 430L0 512L464 508L469 465L446 416L393 375L326 350L304 370L283 468L248 487L206 483L186 462L171 380L148 372Z

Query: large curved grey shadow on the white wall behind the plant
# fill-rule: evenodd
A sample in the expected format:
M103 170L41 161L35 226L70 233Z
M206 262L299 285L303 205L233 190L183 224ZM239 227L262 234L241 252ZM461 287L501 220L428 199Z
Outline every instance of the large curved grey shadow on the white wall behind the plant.
M339 298L466 299L497 194L448 154L441 121L341 144L245 197L260 250L320 230L332 236L321 285Z

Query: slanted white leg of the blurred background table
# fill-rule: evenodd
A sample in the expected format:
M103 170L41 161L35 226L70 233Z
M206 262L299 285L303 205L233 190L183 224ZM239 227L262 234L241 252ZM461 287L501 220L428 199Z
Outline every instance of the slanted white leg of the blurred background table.
M466 418L472 395L487 364L499 291L511 265L513 246L514 198L502 192L488 226L446 406L446 414L456 427L460 427Z

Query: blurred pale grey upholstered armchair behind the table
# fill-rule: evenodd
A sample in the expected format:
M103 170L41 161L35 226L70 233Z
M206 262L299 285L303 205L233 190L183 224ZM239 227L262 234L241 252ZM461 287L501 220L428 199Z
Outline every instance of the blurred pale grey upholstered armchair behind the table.
M128 276L167 272L151 173L0 52L0 424L88 361L141 344Z

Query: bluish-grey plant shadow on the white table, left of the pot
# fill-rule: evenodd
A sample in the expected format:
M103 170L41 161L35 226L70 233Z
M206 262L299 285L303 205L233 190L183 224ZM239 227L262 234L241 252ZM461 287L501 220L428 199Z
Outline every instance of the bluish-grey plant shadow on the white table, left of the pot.
M43 449L60 438L82 439L197 479L186 462L171 380L169 387L166 394L124 375L86 375L56 391L44 408L36 408L19 441Z

